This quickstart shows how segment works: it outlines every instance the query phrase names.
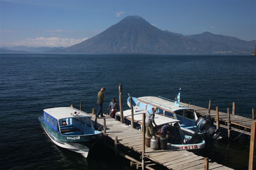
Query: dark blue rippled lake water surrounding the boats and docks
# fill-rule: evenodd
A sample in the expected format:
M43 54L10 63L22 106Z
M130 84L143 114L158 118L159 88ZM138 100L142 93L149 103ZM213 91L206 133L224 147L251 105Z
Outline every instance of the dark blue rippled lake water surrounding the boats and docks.
M0 54L1 169L130 169L129 161L101 145L88 159L56 147L38 121L45 108L78 108L79 102L91 112L101 86L106 109L113 96L118 98L119 83L124 101L128 93L174 99L183 86L183 102L208 107L211 99L212 109L225 112L236 102L236 114L251 117L256 57ZM202 154L236 169L248 166L246 141L213 142Z

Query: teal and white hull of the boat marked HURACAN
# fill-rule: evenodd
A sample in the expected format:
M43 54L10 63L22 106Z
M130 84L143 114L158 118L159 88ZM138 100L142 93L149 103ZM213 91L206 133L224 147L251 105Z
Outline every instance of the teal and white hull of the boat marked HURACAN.
M96 141L99 141L102 138L101 132L92 135L62 135L48 127L48 125L42 121L42 117L39 117L39 121L53 143L59 147L80 153L86 158L89 154L90 148Z

